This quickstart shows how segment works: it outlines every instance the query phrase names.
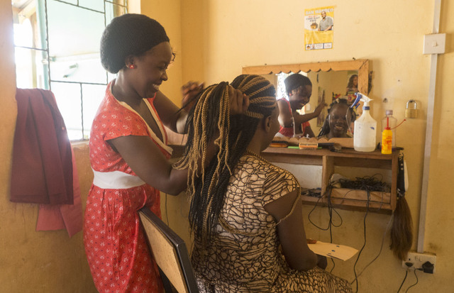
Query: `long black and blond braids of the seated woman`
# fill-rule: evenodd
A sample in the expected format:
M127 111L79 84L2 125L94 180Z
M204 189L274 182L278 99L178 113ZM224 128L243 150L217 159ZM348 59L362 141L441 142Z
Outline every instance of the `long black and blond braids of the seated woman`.
M175 167L187 168L190 198L189 224L194 235L207 243L218 223L229 179L245 153L262 118L277 108L275 87L259 75L242 74L231 86L248 96L245 114L230 115L228 83L213 84L197 97L187 119L187 144ZM218 150L208 167L206 147L214 140ZM201 170L198 170L201 168ZM201 175L197 175L201 174Z

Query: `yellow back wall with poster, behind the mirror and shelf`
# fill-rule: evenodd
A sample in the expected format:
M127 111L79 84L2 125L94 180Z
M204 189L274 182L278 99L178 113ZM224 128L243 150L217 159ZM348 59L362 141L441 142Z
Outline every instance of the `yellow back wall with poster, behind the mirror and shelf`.
M449 179L453 164L454 135L449 131L452 122L451 80L453 72L454 13L452 1L442 1L441 32L448 33L447 53L439 57L436 88L435 121L431 145L431 172L429 178L426 238L424 250L437 254L436 274L419 272L415 291L444 292L451 287L454 269L453 255L449 253L453 226L451 211L454 199L450 197ZM426 131L426 106L430 56L422 54L423 35L431 33L433 1L272 1L272 0L186 0L182 1L183 79L196 77L207 84L221 80L231 81L241 73L241 67L277 65L301 62L323 62L369 59L373 70L372 116L380 120L384 109L394 109L394 116L404 118L406 101L416 99L421 108L420 116L406 121L397 129L397 142L406 157L410 187L406 199L414 218L417 238L423 150ZM334 11L335 33L332 50L304 51L304 9L336 5ZM382 100L387 98L387 104ZM308 236L329 241L327 231L309 223L311 207L304 209ZM364 212L339 211L342 226L333 228L333 241L355 248L364 243ZM327 223L326 209L317 208L311 221L321 227ZM367 242L360 260L336 262L333 272L353 281L380 251L382 236L390 219L386 214L368 214L366 218ZM333 219L339 223L339 219ZM389 233L386 232L380 257L359 278L360 292L396 292L405 270L388 249ZM416 241L414 242L416 249ZM416 282L413 274L407 277L403 288ZM353 284L355 288L355 284Z

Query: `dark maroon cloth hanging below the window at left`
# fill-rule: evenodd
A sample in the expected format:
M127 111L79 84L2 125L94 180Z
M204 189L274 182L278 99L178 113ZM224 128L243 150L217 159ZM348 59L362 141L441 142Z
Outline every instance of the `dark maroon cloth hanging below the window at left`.
M52 92L17 89L11 201L73 204L71 144Z

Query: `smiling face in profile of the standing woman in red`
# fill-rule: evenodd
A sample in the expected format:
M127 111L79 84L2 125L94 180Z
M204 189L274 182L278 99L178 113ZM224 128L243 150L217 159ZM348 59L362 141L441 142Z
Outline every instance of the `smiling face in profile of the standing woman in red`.
M160 84L167 80L167 67L172 62L172 47L162 42L143 55L134 57L136 66L131 78L135 92L142 98L151 98L159 90Z

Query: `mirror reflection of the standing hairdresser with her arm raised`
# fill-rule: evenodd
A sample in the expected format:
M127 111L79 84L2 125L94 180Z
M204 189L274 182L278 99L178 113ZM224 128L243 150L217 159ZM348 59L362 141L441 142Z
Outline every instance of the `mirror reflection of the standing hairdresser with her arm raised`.
M297 110L309 103L311 99L311 80L301 74L292 74L284 80L284 84L289 101L287 99L277 101L279 106L279 136L313 138L315 135L309 120L320 115L326 106L325 101L321 101L313 113L301 115Z

